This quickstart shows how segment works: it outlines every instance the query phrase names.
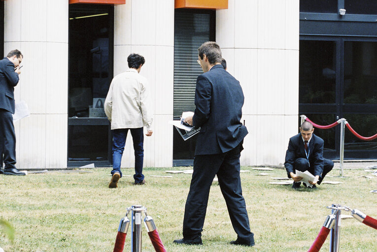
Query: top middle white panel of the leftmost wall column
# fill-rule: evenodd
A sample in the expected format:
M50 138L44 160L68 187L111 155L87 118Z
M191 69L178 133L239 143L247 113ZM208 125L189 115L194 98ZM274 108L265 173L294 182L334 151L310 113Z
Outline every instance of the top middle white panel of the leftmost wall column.
M21 40L46 41L47 0L22 0L18 11L21 11Z

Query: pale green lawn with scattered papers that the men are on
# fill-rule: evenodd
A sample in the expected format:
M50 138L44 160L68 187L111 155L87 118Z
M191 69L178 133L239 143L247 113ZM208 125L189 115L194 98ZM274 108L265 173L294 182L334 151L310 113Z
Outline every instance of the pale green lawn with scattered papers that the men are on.
M180 168L145 168L147 183L132 185L132 177L123 177L117 189L107 188L110 169L93 173L0 175L0 219L16 230L11 243L0 229L0 247L5 252L110 252L113 251L120 219L127 207L147 207L168 252L306 252L316 238L330 210L326 206L344 204L377 218L377 177L363 170L345 170L347 177L327 178L343 184L322 184L318 189L291 189L269 185L270 177L286 176L285 170L242 169L243 195L256 245L252 248L229 245L236 239L225 201L217 182L211 188L202 246L175 245L182 238L184 205L191 174L167 174ZM183 168L188 169L188 168ZM133 175L133 169L123 169ZM271 176L256 176L260 172ZM151 175L171 175L156 178ZM338 176L335 170L330 175ZM325 179L326 180L326 179ZM343 214L349 214L342 211ZM129 233L124 251L130 251ZM142 251L153 252L143 227ZM322 251L329 251L329 238ZM377 252L377 230L355 219L342 220L340 251Z

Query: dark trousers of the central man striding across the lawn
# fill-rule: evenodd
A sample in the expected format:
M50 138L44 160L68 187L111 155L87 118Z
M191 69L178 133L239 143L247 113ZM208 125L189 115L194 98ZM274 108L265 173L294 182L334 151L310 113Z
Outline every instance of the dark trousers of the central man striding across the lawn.
M238 240L244 243L254 242L242 196L240 145L222 154L195 156L183 219L183 238L191 240L202 236L209 189L216 174Z

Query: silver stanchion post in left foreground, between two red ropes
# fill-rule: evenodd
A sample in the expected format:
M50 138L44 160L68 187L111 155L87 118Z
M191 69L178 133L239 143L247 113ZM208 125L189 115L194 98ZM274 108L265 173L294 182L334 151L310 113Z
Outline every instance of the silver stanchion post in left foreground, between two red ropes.
M135 205L131 211L131 252L141 252L141 213L146 211L146 208Z

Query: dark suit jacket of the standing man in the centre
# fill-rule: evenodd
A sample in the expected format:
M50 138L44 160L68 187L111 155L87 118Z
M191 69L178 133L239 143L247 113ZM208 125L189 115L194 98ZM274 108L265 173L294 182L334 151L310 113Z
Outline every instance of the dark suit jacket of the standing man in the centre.
M221 64L198 76L193 125L201 130L195 155L224 153L240 144L248 133L240 122L243 99L240 82Z

